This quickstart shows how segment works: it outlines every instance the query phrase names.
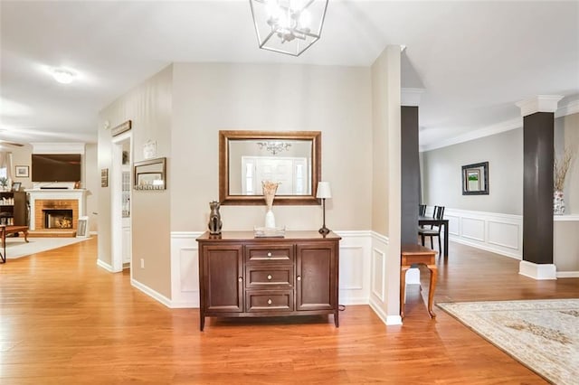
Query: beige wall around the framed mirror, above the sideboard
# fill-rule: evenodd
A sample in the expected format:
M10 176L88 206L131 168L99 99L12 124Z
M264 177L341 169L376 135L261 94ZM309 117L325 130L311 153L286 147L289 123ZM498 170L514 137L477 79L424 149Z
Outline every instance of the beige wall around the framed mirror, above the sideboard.
M370 71L359 67L174 64L171 230L207 229L219 200L218 131L321 131L327 227L368 230L372 146ZM320 206L276 206L276 224L321 227ZM262 226L263 206L222 206L223 230Z

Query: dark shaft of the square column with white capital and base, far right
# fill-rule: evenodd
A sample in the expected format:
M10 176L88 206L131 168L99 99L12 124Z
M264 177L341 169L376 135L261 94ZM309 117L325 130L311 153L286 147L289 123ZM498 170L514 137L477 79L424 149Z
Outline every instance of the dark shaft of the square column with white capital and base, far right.
M552 112L523 118L523 260L553 263Z

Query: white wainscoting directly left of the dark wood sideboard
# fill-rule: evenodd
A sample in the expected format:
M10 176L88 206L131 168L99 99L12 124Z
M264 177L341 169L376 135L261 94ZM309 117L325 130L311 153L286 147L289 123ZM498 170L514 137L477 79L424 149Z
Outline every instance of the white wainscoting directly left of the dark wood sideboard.
M170 307L199 307L199 247L203 232L171 232Z

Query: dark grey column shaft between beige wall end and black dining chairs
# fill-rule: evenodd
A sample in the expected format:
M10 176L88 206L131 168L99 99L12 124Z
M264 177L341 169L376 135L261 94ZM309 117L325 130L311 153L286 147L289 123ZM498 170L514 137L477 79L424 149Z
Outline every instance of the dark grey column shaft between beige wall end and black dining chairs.
M418 107L402 107L402 243L416 243L418 238L418 203L420 199L420 160L418 155Z

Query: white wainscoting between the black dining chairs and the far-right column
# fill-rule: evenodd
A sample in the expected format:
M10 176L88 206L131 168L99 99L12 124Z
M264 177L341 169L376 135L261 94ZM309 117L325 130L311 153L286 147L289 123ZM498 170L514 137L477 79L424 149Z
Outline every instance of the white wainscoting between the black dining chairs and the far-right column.
M449 209L450 239L510 258L523 256L523 217L485 211Z

